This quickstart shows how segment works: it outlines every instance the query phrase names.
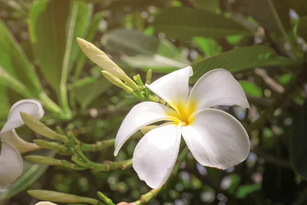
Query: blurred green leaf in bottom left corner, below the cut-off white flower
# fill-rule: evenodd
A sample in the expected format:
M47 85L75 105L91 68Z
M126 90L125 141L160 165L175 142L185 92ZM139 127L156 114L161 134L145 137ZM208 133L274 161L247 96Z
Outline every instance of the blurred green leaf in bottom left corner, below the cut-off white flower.
M54 157L56 151L55 150L39 150L35 153L39 153L40 155L47 157ZM12 186L8 188L4 195L0 195L0 201L2 199L9 199L16 194L24 191L29 186L31 186L45 171L49 166L43 164L32 163L26 159L24 159L24 172Z

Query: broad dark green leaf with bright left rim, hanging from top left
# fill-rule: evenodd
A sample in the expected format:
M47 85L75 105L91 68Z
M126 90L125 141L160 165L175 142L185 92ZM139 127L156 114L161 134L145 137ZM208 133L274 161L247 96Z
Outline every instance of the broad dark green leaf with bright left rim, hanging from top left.
M66 23L70 1L42 0L36 2L29 15L29 33L39 68L50 85L59 90L64 51Z

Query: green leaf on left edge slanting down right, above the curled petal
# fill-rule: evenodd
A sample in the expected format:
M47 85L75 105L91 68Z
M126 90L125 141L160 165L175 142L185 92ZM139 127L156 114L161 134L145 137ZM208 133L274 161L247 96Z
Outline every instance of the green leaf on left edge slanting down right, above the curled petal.
M34 93L42 90L33 65L0 19L0 65Z

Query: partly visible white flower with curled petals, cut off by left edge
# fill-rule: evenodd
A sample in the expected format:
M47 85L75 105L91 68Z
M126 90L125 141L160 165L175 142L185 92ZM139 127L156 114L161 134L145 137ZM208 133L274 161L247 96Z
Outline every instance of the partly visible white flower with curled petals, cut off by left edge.
M26 112L36 119L44 114L41 104L34 99L19 100L11 107L8 121L0 131L0 188L9 187L23 173L21 153L40 149L21 139L16 133L15 129L25 124L19 112Z

